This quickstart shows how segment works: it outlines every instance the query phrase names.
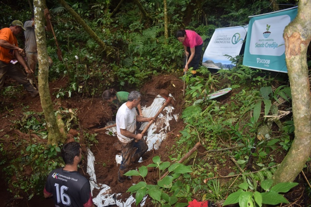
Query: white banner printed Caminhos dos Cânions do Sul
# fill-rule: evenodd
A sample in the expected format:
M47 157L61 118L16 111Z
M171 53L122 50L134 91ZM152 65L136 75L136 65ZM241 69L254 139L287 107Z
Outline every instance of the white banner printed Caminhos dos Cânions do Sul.
M216 29L203 55L202 66L216 69L230 69L235 66L229 60L240 54L248 30L246 26Z

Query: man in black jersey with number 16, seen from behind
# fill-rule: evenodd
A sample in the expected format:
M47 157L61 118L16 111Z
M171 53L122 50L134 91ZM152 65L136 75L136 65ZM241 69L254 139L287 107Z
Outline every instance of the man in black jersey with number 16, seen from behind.
M44 188L44 197L53 195L55 207L94 207L89 181L77 172L81 161L81 146L69 142L63 146L65 167L53 170Z

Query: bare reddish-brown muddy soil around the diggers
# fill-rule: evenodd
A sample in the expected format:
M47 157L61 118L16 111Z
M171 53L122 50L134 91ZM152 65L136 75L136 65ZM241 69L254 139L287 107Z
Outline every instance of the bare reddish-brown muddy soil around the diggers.
M78 118L79 124L75 126L73 130L71 130L68 134L67 141L72 141L73 137L79 137L81 143L84 142L84 137L82 136L83 131L89 131L89 133L94 133L95 129L104 127L105 123L115 119L116 109L108 103L102 101L100 97L91 97L87 99L81 99L77 96L73 96L71 99L56 99L55 92L58 91L60 87L65 87L67 84L67 79L60 79L58 81L50 83L50 91L52 101L54 103L55 110L59 108L64 109L72 109ZM12 81L12 79L6 80L6 85L17 85ZM183 82L174 75L162 75L153 77L150 81L148 81L141 89L136 89L142 94L142 106L149 106L153 99L159 94L161 89L168 90L172 96L175 98L175 111L174 113L182 112L183 105L185 103L183 97ZM105 90L105 89L100 89ZM125 91L129 91L123 89ZM224 103L230 99L230 94L218 98L218 101ZM7 149L15 149L21 150L21 147L17 147L18 140L24 139L30 141L28 134L23 134L19 130L12 128L12 120L19 120L23 116L23 111L25 106L29 106L27 111L35 111L42 112L40 98L30 98L28 94L23 91L20 94L8 95L1 97L1 119L0 119L0 139L1 143L4 144ZM0 103L1 103L0 102ZM172 145L175 145L176 139L178 139L180 133L179 131L183 129L182 120L172 120L170 121L170 132L167 134L166 140L162 142L160 148L158 150L150 150L145 155L143 155L143 162L138 164L137 167L141 165L148 165L152 163L152 157L159 155L162 161L170 161L169 155L174 154L174 151L171 150ZM7 136L8 135L8 136ZM35 135L32 135L32 139L35 139L38 142L46 142L46 140L42 140ZM124 183L117 182L117 172L119 166L117 166L115 161L115 155L120 153L120 149L118 147L118 139L115 136L109 136L104 132L98 132L96 136L98 140L98 144L91 145L91 151L95 156L95 173L97 177L97 183L106 184L111 187L112 192L121 193L120 199L123 201L128 198L130 195L126 193L128 188L132 186L133 183L140 182L139 177L133 177L132 180L127 180ZM13 148L12 148L12 142ZM14 148L16 145L16 148ZM82 162L81 168L79 172L88 178L88 174L86 174L86 145L82 146L82 153L84 156L84 160ZM186 153L186 152L185 152ZM204 153L204 148L200 150L197 155L201 157L201 159L207 159L206 154ZM280 157L279 161L281 162L282 157ZM225 176L230 172L233 172L233 168L235 167L230 158L223 156L221 163L215 160L213 157L208 157L207 162L210 165L222 165L224 167L218 168L217 172L219 175ZM190 163L192 164L192 163ZM0 166L1 167L1 166ZM31 169L29 169L31 173ZM2 172L1 172L2 173ZM3 174L3 173L2 173ZM146 177L146 182L149 184L155 184L158 179L158 172L149 170L148 175ZM231 179L230 179L231 180ZM229 181L229 179L222 179L221 182ZM233 180L231 180L233 182ZM43 192L39 192L39 196L35 196L31 200L27 200L28 195L20 195L21 197L18 199L13 198L13 194L9 193L6 189L10 186L9 183L6 183L3 179L3 175L1 177L0 184L2 186L0 198L2 202L0 202L0 206L54 206L52 199L44 199ZM97 195L98 192L94 191L94 195ZM185 201L186 202L186 201ZM135 205L133 205L135 206ZM150 200L146 202L145 206L154 206Z

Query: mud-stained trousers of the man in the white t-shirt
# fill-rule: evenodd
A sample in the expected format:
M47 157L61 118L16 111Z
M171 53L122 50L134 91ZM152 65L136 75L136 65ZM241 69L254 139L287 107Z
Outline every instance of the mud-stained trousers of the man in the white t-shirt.
M144 139L135 142L133 140L130 143L122 143L122 162L119 168L118 177L120 180L124 179L124 173L128 172L129 166L133 163L137 163L143 154L148 150L148 145Z

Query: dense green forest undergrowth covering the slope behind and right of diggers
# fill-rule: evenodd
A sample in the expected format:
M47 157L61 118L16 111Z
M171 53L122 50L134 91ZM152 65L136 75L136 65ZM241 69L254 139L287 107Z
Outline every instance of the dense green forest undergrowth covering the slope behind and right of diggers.
M245 25L248 24L248 16L274 11L273 6L285 9L296 4L295 1L286 0L278 1L279 5L273 5L267 0L167 1L169 38L166 40L162 0L140 1L151 18L137 15L141 14L139 8L135 1L129 0L125 0L119 10L110 16L118 2L110 0L67 2L100 39L113 47L114 53L107 57L103 49L90 39L61 5L47 1L64 58L63 62L58 61L53 35L47 33L48 53L54 60L49 78L52 80L67 76L69 80L67 87L60 88L55 94L58 98L99 96L101 93L98 91L99 88L111 86L118 89L124 86L139 88L153 75L180 74L183 67L183 50L174 37L176 30L180 28L195 30L202 36L206 48L216 28ZM15 5L10 1L2 1L1 8L1 27L9 26L15 19L25 21L31 14L31 9L25 1L16 1ZM19 43L23 42L20 37ZM75 58L76 55L79 59ZM185 148L185 151L197 142L205 144L207 150L229 148L224 150L222 155L236 161L237 166L240 166L237 172L244 171L241 177L235 183L220 183L216 178L217 168L212 169L206 162L211 156L207 154L206 157L196 160L191 168L191 174L186 168L187 170L182 173L182 180L174 182L170 188L163 188L163 192L170 197L154 198L155 203L168 205L174 203L171 200L185 202L193 198L221 201L228 193L236 191L238 186L245 191L261 191L259 186L265 184L276 171L277 164L272 152L275 150L286 152L294 133L287 76L245 67L241 65L242 59L243 56L231 57L237 67L230 71L216 72L201 67L198 70L199 76L190 78L191 74L187 74L183 77L188 86L185 98L187 104L181 116L185 128L180 132L182 136L176 143L176 147ZM215 100L206 100L207 94L225 87L231 87L236 91L230 101L220 104ZM9 92L3 90L1 93ZM271 114L278 115L267 117ZM33 130L39 131L44 121L39 118L40 114L32 117L33 119L27 119L27 122L19 123L19 127L25 127L25 130L32 127ZM41 123L38 120L41 120ZM268 132L270 137L261 136L264 132ZM44 136L44 132L40 133ZM87 138L89 142L96 140L92 135L88 135ZM5 154L6 152L1 149L0 152ZM32 153L25 152L27 156L10 161L12 164L4 168L8 176L20 174L18 173L20 169L14 165L16 162L35 165L38 172L48 173L51 169L47 166L51 164L47 162L52 162L50 158L55 159L59 148L48 146L46 149L45 146L30 145L26 151ZM182 150L170 156L179 160L181 152ZM40 153L41 157L38 159L37 154ZM216 153L213 156L220 155ZM161 162L157 159L152 167L160 169ZM220 162L221 159L224 158L220 156ZM36 160L36 163L29 160ZM5 162L6 160L1 164ZM53 162L53 167L55 166L58 166L57 160ZM165 165L161 170L168 167L169 165ZM141 170L143 172L145 168ZM22 177L19 179L25 180ZM28 191L31 197L37 192L35 189L42 188L38 179L39 176L34 174L28 180L16 183L14 187ZM202 185L204 180L206 185ZM239 185L241 183L242 185ZM230 191L227 191L229 186ZM263 186L262 188L267 190ZM15 193L18 194L18 191ZM283 201L280 199L280 202Z

